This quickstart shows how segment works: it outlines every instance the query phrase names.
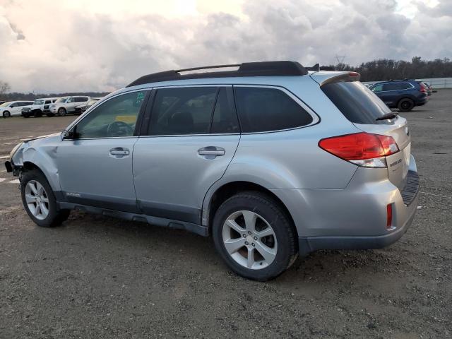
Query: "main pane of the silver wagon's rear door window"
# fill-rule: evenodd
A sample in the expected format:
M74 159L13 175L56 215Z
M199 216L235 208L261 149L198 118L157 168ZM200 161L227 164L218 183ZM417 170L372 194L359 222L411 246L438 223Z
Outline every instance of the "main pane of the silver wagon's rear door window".
M158 89L148 135L209 133L217 93L215 87Z

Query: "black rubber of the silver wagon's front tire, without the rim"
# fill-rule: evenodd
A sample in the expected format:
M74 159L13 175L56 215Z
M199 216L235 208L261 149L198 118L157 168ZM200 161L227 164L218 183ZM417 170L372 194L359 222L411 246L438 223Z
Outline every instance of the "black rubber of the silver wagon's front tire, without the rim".
M27 186L30 180L35 180L42 184L47 194L47 198L49 198L49 214L43 220L39 220L35 218L35 215L32 215L30 209L27 206L27 201L25 200L25 186ZM44 177L44 174L42 174L42 172L40 172L37 169L24 172L20 180L20 194L22 196L22 203L23 207L25 208L25 211L27 212L31 220L35 222L36 225L41 227L53 227L58 223L57 220L59 218L59 210L57 206L57 201L55 199L52 187L49 185L49 182L47 182L47 179Z

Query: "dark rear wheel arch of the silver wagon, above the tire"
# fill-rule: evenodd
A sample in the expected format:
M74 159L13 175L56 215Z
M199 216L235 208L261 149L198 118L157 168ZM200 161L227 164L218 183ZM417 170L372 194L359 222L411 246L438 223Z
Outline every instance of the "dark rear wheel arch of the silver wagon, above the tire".
M256 191L261 194L265 194L272 198L276 203L283 208L287 218L289 218L292 223L293 229L295 230L295 234L297 234L297 227L295 226L294 218L290 213L285 203L278 197L273 191L267 189L261 184L256 184L256 182L249 181L232 181L223 183L218 185L213 189L208 191L206 197L203 202L203 216L202 216L202 224L203 226L211 227L213 223L213 218L215 217L215 212L221 206L221 204L226 201L228 198L242 191Z

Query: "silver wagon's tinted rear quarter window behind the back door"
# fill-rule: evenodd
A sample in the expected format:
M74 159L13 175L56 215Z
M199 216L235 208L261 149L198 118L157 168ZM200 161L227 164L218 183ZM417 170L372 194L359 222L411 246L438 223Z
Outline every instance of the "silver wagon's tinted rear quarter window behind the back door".
M242 131L266 132L311 124L311 115L289 95L276 88L235 87Z

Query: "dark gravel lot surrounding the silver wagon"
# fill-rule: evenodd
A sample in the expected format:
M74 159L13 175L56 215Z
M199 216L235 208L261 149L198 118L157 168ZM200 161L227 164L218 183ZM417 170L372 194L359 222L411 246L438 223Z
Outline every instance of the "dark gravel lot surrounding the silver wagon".
M79 212L37 227L1 167L0 338L451 338L452 90L403 116L422 180L405 236L316 252L269 283L184 231ZM0 119L0 157L73 119Z

